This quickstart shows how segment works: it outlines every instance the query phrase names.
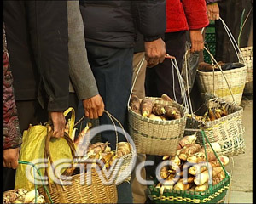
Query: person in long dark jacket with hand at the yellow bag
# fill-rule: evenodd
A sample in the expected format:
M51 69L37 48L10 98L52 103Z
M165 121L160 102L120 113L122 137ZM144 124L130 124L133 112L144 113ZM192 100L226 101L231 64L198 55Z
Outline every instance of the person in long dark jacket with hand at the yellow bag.
M69 102L67 3L4 1L3 21L20 132L50 118L59 138ZM14 189L15 171L6 169L3 179L3 190Z

